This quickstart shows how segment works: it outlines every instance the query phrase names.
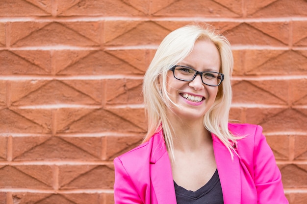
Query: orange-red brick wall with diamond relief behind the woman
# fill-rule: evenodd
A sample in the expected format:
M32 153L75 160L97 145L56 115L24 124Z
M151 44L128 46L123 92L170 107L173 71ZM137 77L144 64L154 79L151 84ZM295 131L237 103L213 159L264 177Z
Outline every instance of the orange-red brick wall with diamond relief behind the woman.
M263 126L306 204L306 0L0 0L0 204L114 203L112 160L146 132L143 74L190 22L230 40L230 117Z

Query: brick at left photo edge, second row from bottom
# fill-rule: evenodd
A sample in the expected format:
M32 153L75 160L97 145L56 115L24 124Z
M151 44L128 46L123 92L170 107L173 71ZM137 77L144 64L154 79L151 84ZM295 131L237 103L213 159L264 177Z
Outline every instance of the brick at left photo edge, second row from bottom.
M24 167L25 168L25 167ZM28 188L28 189L51 189L51 185L46 181L52 178L51 172L44 172L45 175L38 174L45 171L44 166L31 166L30 171L24 172L21 166L4 166L0 168L0 188ZM31 173L32 172L32 173ZM35 172L35 173L34 173ZM31 174L28 174L31 173ZM33 177L34 176L34 177ZM40 177L42 176L42 177ZM38 180L43 178L47 180Z

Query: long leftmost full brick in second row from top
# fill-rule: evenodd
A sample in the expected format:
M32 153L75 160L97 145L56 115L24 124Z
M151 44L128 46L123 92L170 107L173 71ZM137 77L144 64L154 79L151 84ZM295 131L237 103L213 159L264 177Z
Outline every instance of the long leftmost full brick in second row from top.
M73 24L73 23L72 23ZM31 25L31 24L30 24ZM23 30L22 26L25 30ZM14 46L48 46L48 45L73 45L73 46L97 46L98 43L84 36L76 30L72 30L63 23L37 23L30 29L29 23L12 23L12 45ZM26 34L20 34L20 31ZM21 36L23 37L22 39Z

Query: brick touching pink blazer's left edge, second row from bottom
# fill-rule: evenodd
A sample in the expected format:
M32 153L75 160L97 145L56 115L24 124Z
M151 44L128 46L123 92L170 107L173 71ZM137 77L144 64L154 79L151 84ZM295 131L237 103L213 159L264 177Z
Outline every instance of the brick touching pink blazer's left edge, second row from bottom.
M59 166L60 189L113 188L114 169L105 165Z

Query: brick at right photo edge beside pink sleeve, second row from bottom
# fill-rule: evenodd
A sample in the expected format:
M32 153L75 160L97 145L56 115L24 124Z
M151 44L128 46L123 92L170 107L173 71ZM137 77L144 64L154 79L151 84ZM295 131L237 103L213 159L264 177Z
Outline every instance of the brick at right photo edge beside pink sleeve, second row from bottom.
M281 179L284 188L306 188L307 187L307 165L281 165ZM298 179L299 178L299 179Z

